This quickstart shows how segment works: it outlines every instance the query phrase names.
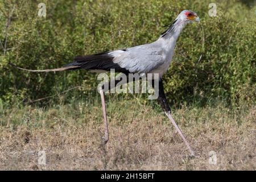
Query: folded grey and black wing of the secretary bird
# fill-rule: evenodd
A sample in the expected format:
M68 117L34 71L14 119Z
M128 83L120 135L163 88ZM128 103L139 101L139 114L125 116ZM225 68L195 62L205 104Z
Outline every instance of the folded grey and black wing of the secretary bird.
M93 72L110 71L123 73L149 73L162 65L163 56L154 44L144 44L127 49L77 56L73 63L64 67L79 67Z

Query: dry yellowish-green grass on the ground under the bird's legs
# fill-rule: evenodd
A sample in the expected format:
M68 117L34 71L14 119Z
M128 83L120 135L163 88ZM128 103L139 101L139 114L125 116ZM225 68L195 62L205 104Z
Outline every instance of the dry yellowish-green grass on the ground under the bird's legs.
M151 106L136 108L134 101L109 106L110 141L101 146L104 129L97 105L5 110L0 169L256 169L255 106L239 111L221 105L175 110L174 118L197 154L191 159L167 118ZM46 165L38 164L42 150ZM209 151L217 153L216 165L209 164Z

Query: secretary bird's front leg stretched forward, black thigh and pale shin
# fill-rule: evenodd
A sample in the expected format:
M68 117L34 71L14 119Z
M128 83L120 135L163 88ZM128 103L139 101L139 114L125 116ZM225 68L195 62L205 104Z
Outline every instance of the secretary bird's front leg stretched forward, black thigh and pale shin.
M154 88L156 88L156 85L154 85ZM192 150L191 146L189 145L187 139L184 137L183 133L181 132L179 126L177 126L176 122L174 121L174 118L172 118L171 115L171 108L170 105L168 104L166 94L164 94L164 88L163 88L163 81L159 80L159 96L158 96L158 102L161 105L164 114L167 115L167 117L170 119L172 125L174 125L175 129L179 133L180 137L183 139L185 144L187 145L189 151L191 152L192 156L195 156L195 152Z

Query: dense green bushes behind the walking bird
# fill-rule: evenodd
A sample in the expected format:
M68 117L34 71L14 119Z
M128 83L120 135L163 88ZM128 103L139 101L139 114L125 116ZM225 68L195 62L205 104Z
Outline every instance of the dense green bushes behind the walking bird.
M201 24L189 24L177 41L164 76L167 97L202 104L214 98L232 105L255 102L254 3L216 1L217 17L210 17L210 1L44 2L46 18L38 16L39 1L0 1L1 107L59 96L78 85L83 88L65 92L65 98L93 97L97 88L94 73L30 73L9 67L8 62L28 69L56 68L77 55L149 43L183 9L196 11Z

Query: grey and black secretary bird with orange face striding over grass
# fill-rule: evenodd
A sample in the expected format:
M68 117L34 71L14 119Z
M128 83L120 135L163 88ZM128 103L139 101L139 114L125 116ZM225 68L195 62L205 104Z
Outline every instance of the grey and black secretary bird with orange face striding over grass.
M130 47L126 49L119 49L115 51L109 51L104 53L98 53L94 55L77 56L73 63L64 65L61 68L56 69L45 69L45 70L32 70L17 67L16 65L9 63L10 65L30 72L56 72L56 71L67 71L75 69L85 69L93 72L105 71L109 72L110 69L114 69L115 72L122 72L126 75L128 73L157 73L159 74L158 80L158 102L162 107L164 113L170 119L177 132L187 145L191 155L195 155L187 139L185 139L183 133L177 126L176 122L172 118L171 108L168 104L166 95L164 94L164 87L162 76L167 71L172 57L174 55L174 48L176 40L180 35L181 31L187 23L200 22L199 16L193 11L184 10L177 18L171 23L167 30L164 31L158 40L155 42L144 44L141 46ZM117 86L119 81L115 81L114 87ZM107 84L110 85L110 82ZM105 84L104 84L105 85ZM152 84L154 87L154 84ZM114 88L113 85L109 86L109 89ZM102 110L105 124L105 137L103 143L106 144L109 140L108 121L105 107L105 93L104 86L100 87L100 96L102 102Z

